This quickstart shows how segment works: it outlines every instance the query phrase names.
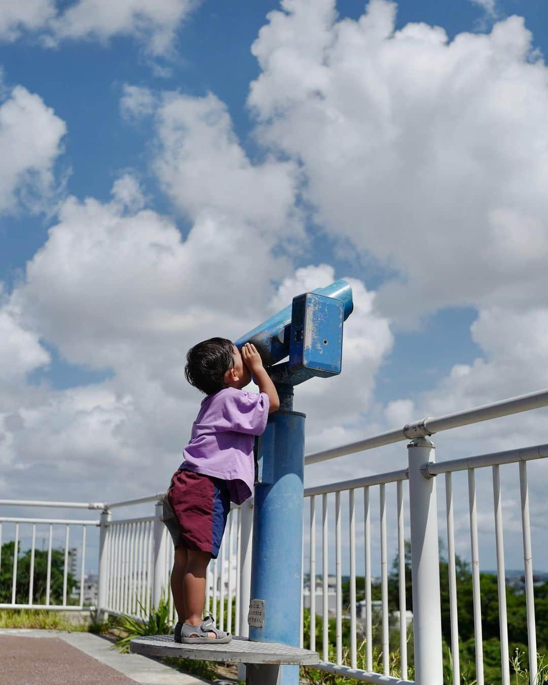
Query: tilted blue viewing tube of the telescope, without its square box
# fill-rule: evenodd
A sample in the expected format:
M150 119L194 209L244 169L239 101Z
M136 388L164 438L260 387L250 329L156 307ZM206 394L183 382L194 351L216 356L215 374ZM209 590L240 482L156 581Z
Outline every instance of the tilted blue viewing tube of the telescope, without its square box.
M325 288L316 288L312 290L316 295L323 295L324 298L332 298L340 301L340 310L343 314L343 321L346 321L353 310L352 288L346 281L335 281ZM303 297L303 296L299 296ZM245 336L236 340L236 347L240 348L245 343L253 343L260 353L262 362L265 366L273 366L277 362L286 358L290 353L291 346L291 321L293 319L295 324L295 316L299 314L302 306L299 309L299 303L295 301L299 299L296 297L292 305L289 305L282 311L271 316L270 319L264 321L253 330L246 333ZM297 312L296 310L299 310ZM310 302L310 306L314 306L314 302ZM326 311L327 303L325 303ZM306 316L304 312L303 316ZM293 341L295 344L295 341ZM339 369L340 371L340 369ZM316 374L319 375L319 374Z

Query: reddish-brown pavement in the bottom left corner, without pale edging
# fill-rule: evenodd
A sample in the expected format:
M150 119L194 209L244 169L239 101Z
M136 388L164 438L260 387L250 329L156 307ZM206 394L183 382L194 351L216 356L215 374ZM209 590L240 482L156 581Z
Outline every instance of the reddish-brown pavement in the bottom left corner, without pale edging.
M135 682L59 638L0 636L0 685L131 685Z

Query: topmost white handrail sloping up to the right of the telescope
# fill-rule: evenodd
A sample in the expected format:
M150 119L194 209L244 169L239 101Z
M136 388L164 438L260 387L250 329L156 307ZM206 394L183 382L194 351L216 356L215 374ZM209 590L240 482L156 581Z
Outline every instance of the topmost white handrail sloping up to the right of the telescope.
M458 428L459 426L478 423L479 421L488 421L488 419L497 419L500 416L509 416L510 414L527 412L545 406L548 406L548 389L536 390L536 392L528 393L527 395L509 397L508 399L502 399L498 402L484 404L472 409L466 409L462 412L445 414L444 416L438 416L437 418L427 416L425 419L406 423L406 425L401 428L396 428L386 433L379 433L371 436L371 438L358 440L356 443L340 445L339 447L332 447L320 452L308 454L305 456L304 463L305 466L308 466L308 464L317 464L318 462L323 462L328 459L335 459L355 452L362 452L366 449L382 447L382 445L392 445L393 443L401 442L401 440L425 438L450 428Z

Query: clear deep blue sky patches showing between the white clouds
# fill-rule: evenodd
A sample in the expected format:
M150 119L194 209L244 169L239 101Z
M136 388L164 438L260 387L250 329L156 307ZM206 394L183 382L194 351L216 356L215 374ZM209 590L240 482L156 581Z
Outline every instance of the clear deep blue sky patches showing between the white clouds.
M518 7L519 5L519 7ZM201 3L188 21L177 31L173 60L160 60L171 71L169 77L155 76L154 70L142 55L142 46L133 38L114 37L108 45L97 42L71 41L58 49L44 49L36 44L34 34L4 44L0 48L5 85L25 84L37 92L47 105L66 121L69 134L64 139L65 153L58 162L60 173L68 173L66 192L77 197L96 197L107 201L112 182L124 169L135 171L147 192L149 206L160 212L170 212L170 203L158 189L149 173L150 146L153 133L151 122L127 125L120 114L119 102L123 84L131 83L150 88L178 90L188 95L201 96L214 92L227 104L234 121L234 129L249 155L261 151L251 137L251 116L245 101L249 83L259 69L250 45L264 24L266 13L278 3L244 1L234 3L210 1ZM534 26L546 16L542 3L500 3L500 16L519 10ZM339 16L358 18L364 10L363 2L337 3ZM397 26L420 21L443 26L449 36L462 31L485 29L494 20L486 18L482 8L468 1L458 3L401 2L398 5ZM535 34L536 45L543 48L543 34ZM4 249L0 254L0 279L11 286L20 277L27 260L34 256L47 238L51 220L42 214L29 216L18 212L5 216L1 237ZM185 232L184 222L179 228ZM383 278L380 267L365 268L356 260L334 260L329 254L329 240L325 235L314 237L312 249L301 261L329 262L344 273L362 277L375 288ZM406 375L415 389L427 388L434 373L447 372L452 364L467 362L480 353L470 340L469 326L475 317L469 308L440 312L425 319L419 331L404 332L397 338L395 349L381 371L379 395L388 401L394 391L395 376L401 392L403 364L412 362L423 371ZM400 349L401 348L401 349ZM52 349L53 363L41 370L55 387L95 381L97 373L67 366ZM385 390L388 388L388 390Z

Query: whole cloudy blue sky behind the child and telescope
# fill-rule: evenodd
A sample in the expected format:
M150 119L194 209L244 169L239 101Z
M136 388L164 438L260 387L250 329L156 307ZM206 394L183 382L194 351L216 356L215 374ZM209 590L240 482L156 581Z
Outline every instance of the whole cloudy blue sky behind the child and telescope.
M162 488L199 400L186 349L340 277L343 375L297 393L309 451L548 385L545 3L121 6L0 9L0 490Z

